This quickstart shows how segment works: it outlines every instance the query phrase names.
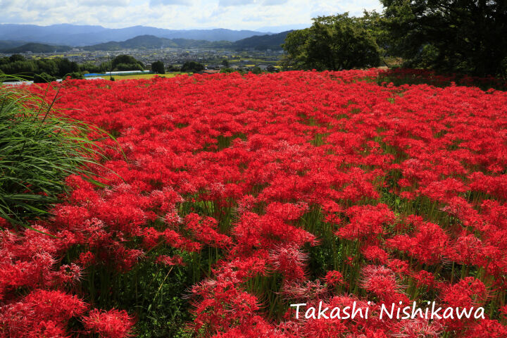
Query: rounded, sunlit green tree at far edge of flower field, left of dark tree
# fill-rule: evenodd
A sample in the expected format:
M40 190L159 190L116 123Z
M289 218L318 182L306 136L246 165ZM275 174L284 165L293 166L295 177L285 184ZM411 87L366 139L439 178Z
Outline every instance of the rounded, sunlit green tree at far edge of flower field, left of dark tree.
M320 16L305 30L290 32L282 45L285 67L340 70L373 67L380 63L380 48L365 19L348 13Z

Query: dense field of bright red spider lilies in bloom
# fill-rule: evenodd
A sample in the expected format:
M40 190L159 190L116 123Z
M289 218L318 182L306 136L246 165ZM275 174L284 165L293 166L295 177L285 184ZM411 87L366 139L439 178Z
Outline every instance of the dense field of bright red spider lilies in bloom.
M507 93L378 72L49 89L116 141L89 135L106 186L69 177L33 225L54 237L0 232L0 337L119 338L153 318L181 321L153 337L507 337ZM354 301L368 319L290 306ZM413 301L484 319L378 317Z

